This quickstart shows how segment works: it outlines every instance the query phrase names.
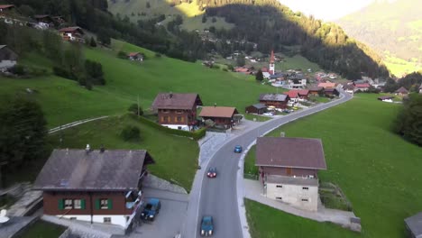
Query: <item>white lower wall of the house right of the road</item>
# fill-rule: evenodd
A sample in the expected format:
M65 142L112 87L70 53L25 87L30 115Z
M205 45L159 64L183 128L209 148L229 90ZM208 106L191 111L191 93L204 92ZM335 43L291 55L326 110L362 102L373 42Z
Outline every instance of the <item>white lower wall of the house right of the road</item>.
M302 179L302 178L298 178ZM305 185L267 183L267 197L308 211L316 211L318 187ZM306 189L307 188L307 189Z

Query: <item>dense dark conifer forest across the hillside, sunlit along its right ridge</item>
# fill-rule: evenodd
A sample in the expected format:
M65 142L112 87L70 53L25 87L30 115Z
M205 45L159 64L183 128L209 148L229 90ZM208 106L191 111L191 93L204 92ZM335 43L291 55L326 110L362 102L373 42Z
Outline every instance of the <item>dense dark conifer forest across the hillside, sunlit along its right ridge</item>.
M294 14L276 0L197 1L199 8L206 9L206 16L222 16L235 24L232 30L210 29L217 41L203 41L197 32L181 30L181 17L175 17L166 26L157 24L164 15L131 23L127 16L108 13L106 0L8 2L17 5L22 13L60 14L69 23L96 32L100 39L123 39L173 58L194 61L204 59L211 50L226 56L234 50L254 50L255 46L262 52L285 52L294 46L298 48L296 53L347 78L389 75L372 50L348 38L335 24ZM181 2L176 1L175 5Z

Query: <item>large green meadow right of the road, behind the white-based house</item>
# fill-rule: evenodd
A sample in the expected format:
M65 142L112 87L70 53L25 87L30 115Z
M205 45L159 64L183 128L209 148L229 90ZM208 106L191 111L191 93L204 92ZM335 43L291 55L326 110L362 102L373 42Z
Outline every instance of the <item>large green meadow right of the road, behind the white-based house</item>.
M391 133L390 126L400 105L382 103L377 96L356 95L344 105L282 126L269 136L285 132L288 137L321 138L328 169L319 172L319 177L344 191L354 213L362 218L362 236L405 237L403 219L422 210L422 200L417 198L422 197L422 177L417 176L422 168L422 150ZM246 160L246 164L254 163L254 154ZM261 223L262 219L253 218L259 216L256 210L250 213L253 223ZM266 229L280 237L277 226L280 225ZM284 229L295 236L291 226ZM313 225L301 226L303 232L313 229ZM317 226L317 231L324 229L323 224Z

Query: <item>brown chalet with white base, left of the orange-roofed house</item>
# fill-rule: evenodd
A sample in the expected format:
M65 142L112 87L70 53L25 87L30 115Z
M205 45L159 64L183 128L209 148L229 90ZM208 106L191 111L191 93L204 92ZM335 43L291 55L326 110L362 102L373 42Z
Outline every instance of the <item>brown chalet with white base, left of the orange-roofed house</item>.
M190 131L197 125L197 105L202 105L197 94L158 94L152 108L157 110L159 124L171 129Z

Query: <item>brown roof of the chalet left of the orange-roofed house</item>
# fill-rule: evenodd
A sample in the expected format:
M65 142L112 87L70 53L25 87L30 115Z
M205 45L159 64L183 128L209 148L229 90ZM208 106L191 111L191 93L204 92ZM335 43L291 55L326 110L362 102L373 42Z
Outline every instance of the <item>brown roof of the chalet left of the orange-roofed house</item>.
M155 96L154 109L192 109L194 105L202 105L198 94L159 93Z

